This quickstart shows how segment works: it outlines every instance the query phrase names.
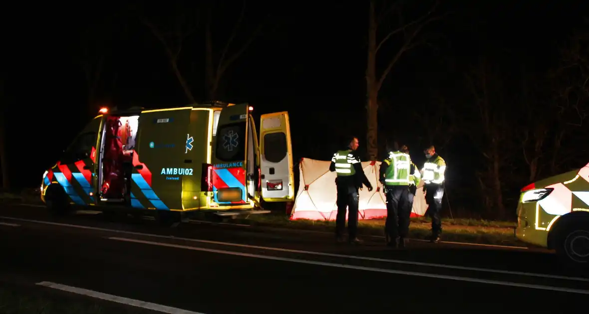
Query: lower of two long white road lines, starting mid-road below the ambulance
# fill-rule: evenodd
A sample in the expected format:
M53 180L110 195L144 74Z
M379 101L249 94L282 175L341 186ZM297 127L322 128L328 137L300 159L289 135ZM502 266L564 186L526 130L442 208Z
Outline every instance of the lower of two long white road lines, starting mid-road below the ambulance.
M241 253L241 252L231 252L228 250L196 248L194 246L176 245L176 244L161 243L161 242L151 242L151 241L135 240L135 239L128 239L128 238L118 238L115 236L112 236L108 239L125 241L125 242L143 243L143 244L149 244L149 245L167 246L169 248L198 250L198 251L210 252L210 253L220 253L220 254L227 254L227 255L243 256L243 257L249 257L249 258L280 260L283 262L302 263L302 264L317 265L317 266L329 266L329 267L346 268L346 269L354 269L354 270L367 270L370 272L393 273L395 275L407 275L407 276L418 276L418 277L436 278L436 279L458 280L458 281L465 281L465 282L486 283L489 285L512 286L512 287L518 287L518 288L551 290L551 291L558 291L558 292L581 293L584 295L589 295L589 290L581 290L581 289L570 289L570 288L562 288L562 287L554 287L554 286L532 285L529 283L517 283L517 282L507 282L507 281L500 281L500 280L487 280L487 279L478 279L478 278L469 278L469 277L439 275L439 274L435 274L435 273L409 272L409 271L405 271L405 270L355 266L355 265L347 265L347 264L340 264L340 263L317 262L315 260L279 258L277 256L267 256L267 255L258 255L258 254Z

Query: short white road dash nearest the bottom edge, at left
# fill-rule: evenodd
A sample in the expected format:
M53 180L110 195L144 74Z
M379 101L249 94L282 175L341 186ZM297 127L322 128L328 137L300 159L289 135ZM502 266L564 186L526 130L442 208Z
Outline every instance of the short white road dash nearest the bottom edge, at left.
M85 295L91 296L92 298L107 300L111 302L123 303L126 305L136 306L138 308L150 309L150 310L157 310L158 312L162 313L169 313L169 314L203 314L198 312L193 312L191 310L183 310L178 308L172 308L171 306L166 305L159 305L150 302L144 302L140 300L134 300L129 298L124 298L122 296L115 296L115 295L108 295L107 293L96 292L93 290L83 289L83 288L76 288L72 286L61 285L60 283L54 282L38 282L36 283L38 286L44 286L47 288L77 293L78 295Z

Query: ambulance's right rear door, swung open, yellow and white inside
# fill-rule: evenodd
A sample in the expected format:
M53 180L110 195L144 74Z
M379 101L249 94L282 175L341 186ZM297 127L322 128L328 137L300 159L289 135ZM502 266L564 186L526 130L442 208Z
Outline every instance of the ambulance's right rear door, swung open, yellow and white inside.
M260 120L262 198L266 202L292 201L294 175L289 114L269 113Z

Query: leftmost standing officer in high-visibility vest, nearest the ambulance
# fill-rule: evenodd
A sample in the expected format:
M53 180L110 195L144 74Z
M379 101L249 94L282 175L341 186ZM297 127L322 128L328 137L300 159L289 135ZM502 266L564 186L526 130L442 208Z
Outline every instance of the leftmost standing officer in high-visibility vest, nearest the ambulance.
M352 244L359 244L358 239L358 202L360 196L358 189L362 184L372 191L372 185L366 175L360 157L358 156L358 138L353 137L348 141L348 148L333 154L329 171L337 173L337 216L336 216L336 239L343 242L343 231L346 227L346 209L348 212L348 237Z

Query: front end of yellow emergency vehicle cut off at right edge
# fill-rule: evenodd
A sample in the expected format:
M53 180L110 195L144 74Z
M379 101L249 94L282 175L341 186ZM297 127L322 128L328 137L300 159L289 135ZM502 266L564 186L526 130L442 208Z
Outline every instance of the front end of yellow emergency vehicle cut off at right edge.
M589 267L589 163L521 189L515 236L554 249L565 265Z

